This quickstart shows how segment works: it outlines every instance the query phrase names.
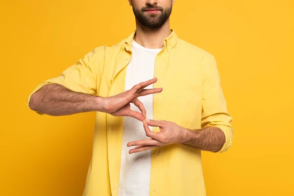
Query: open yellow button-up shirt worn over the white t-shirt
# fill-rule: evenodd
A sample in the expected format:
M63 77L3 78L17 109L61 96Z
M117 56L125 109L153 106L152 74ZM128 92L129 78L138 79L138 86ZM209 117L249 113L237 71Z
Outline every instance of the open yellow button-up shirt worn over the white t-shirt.
M55 78L56 83L76 92L110 97L125 91L126 66L131 60L134 31L112 47L98 47ZM215 58L177 37L171 29L155 59L153 119L177 123L188 129L221 128L227 150L234 130L227 112ZM41 113L39 113L41 114ZM159 132L158 127L153 131ZM93 154L83 196L117 196L122 153L123 117L97 112ZM150 196L205 196L200 150L182 144L151 151ZM140 178L140 176L138 176Z

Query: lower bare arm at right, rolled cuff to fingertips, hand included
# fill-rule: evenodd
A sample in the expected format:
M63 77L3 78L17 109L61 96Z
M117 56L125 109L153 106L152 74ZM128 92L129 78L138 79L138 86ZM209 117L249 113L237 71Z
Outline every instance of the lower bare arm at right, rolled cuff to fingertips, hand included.
M160 132L150 131L148 125L158 126ZM176 123L169 121L155 121L145 119L143 126L146 135L150 139L132 141L128 147L137 146L130 149L129 153L141 152L153 147L164 147L171 144L184 144L200 150L217 152L225 143L225 135L218 127L206 127L199 130L189 130Z

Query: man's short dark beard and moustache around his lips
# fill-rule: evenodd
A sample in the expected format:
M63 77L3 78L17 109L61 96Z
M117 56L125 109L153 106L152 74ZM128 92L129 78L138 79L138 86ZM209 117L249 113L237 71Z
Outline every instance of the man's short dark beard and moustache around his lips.
M146 9L159 9L161 13L159 14L147 14L145 13ZM157 29L161 27L169 19L172 13L172 4L171 7L163 9L162 7L156 5L147 5L142 9L137 9L133 6L134 15L139 21L139 23L149 29Z

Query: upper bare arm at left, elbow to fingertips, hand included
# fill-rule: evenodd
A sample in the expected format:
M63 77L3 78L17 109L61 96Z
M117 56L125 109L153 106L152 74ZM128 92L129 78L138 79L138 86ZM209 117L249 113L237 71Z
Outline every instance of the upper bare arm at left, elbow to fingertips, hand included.
M39 113L52 116L98 111L144 121L146 110L138 97L160 93L162 88L144 89L156 81L157 78L153 78L141 82L130 90L108 98L74 92L59 84L47 84L31 96L29 107ZM130 103L134 103L141 113L131 110Z

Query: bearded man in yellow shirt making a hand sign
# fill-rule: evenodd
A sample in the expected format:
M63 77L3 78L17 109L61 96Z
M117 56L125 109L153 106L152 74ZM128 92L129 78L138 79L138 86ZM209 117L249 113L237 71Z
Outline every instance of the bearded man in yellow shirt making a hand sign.
M170 29L174 0L128 1L136 31L42 82L29 107L97 112L84 196L205 196L201 150L233 139L215 58Z

